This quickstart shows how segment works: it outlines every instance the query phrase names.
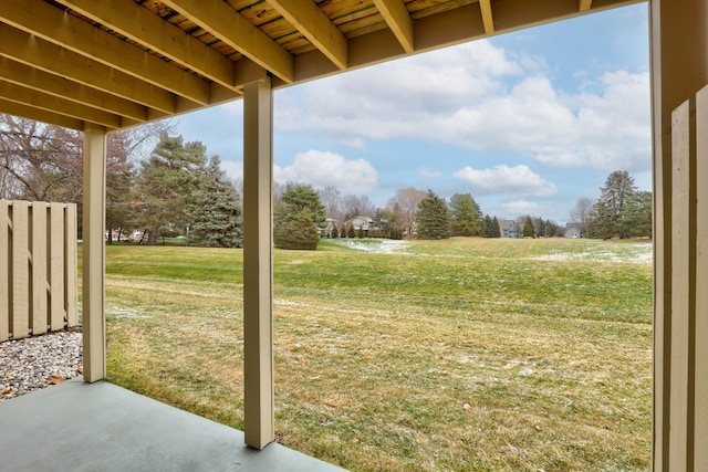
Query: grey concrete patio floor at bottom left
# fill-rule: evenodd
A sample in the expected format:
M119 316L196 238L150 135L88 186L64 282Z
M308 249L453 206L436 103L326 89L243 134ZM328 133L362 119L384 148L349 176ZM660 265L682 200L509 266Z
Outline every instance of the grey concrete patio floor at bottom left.
M81 378L0 402L2 471L308 471L343 469L115 385Z

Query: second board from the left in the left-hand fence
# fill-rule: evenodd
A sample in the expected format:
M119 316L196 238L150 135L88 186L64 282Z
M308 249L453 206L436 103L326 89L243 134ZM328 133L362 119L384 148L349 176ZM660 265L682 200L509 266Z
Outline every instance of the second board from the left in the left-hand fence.
M27 201L12 202L12 314L11 331L15 339L30 333L30 234Z

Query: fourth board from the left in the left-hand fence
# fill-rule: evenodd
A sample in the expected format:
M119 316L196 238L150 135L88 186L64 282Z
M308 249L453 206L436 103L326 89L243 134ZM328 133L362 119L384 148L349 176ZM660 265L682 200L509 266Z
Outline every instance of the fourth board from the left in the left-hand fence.
M50 203L50 286L51 286L51 329L65 326L64 306L64 208L62 203Z

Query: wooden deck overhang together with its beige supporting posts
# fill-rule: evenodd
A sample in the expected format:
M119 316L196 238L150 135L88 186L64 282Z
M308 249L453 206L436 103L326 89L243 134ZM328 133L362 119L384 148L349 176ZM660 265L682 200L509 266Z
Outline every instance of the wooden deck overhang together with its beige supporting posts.
M636 2L0 0L0 113L85 135L86 379L105 374L107 132L244 98L244 432L262 448L273 438L272 90ZM708 0L649 0L649 11L654 470L698 471L708 464L708 402L697 401L708 398L708 345L697 342L708 337L708 113L694 112L708 83ZM675 117L687 133L671 135L684 103Z

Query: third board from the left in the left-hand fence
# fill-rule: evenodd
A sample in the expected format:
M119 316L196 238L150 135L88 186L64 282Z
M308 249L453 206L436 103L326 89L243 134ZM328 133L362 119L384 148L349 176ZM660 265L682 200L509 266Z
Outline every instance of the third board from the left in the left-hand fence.
M32 203L32 334L46 333L46 211Z

